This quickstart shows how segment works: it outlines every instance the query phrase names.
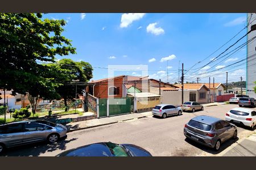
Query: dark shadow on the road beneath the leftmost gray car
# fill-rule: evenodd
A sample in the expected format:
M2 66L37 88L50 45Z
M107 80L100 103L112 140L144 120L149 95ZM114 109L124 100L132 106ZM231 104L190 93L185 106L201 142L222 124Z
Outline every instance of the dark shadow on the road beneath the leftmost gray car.
M67 138L67 137L65 137ZM46 152L53 152L55 150L66 150L66 144L75 141L77 138L72 138L65 140L65 138L60 139L59 142L47 144L46 142L32 143L24 146L17 146L13 148L7 148L5 152L0 154L0 156L39 156ZM57 154L56 154L57 155Z

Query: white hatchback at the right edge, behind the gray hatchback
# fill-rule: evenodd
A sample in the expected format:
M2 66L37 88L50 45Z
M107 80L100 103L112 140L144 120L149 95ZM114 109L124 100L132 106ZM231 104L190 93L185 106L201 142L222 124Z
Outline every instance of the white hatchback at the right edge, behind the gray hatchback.
M256 112L251 109L233 108L226 113L225 120L234 124L249 126L253 129L256 125Z

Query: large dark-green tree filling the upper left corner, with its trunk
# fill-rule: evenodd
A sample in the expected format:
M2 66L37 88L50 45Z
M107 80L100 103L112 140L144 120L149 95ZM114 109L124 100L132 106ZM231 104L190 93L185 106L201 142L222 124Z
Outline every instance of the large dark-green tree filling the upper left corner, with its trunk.
M52 70L39 62L56 62L56 55L75 54L71 40L61 33L65 20L42 14L0 14L0 89L29 94L35 113L40 97L56 97L59 86Z

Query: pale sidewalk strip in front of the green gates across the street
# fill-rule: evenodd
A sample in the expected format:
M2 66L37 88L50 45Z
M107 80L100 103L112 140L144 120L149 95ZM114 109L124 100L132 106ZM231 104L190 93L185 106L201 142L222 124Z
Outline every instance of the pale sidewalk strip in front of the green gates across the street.
M92 120L80 121L80 122L71 122L66 124L68 128L68 132L93 128L97 126L109 125L114 124L117 122L127 121L138 119L142 117L152 117L152 112L143 112L143 113L131 113L131 114L123 114L119 116L112 116L112 117L104 117L104 118L94 118Z

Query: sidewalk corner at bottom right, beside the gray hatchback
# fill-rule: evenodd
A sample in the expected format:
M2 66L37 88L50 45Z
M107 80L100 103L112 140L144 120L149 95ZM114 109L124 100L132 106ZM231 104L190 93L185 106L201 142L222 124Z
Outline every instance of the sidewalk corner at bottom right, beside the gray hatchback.
M228 151L217 156L256 156L256 133L237 141Z

